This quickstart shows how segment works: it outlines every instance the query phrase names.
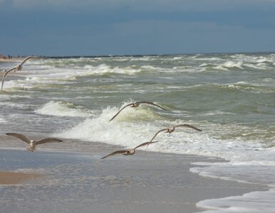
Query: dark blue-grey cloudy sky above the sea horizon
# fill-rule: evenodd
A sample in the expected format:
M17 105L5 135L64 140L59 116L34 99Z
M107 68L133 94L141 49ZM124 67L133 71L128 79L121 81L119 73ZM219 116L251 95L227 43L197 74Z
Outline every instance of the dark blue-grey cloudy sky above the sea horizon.
M275 52L275 0L0 0L4 55Z

